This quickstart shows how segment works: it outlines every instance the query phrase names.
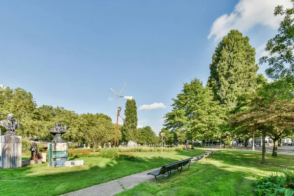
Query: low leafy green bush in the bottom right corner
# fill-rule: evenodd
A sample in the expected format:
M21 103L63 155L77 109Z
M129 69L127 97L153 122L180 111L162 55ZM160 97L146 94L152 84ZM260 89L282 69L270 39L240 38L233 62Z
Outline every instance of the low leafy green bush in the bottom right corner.
M284 170L282 175L277 173L263 177L256 183L253 190L258 196L293 196L294 172Z

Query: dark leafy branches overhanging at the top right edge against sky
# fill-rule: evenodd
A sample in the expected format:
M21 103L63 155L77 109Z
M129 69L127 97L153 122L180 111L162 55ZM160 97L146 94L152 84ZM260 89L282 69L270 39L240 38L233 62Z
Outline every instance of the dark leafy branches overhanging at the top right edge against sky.
M277 80L283 77L294 78L294 0L292 8L284 9L283 5L275 7L274 16L283 16L280 22L278 34L271 38L265 51L269 52L268 56L259 59L260 64L268 63L270 68L266 74Z

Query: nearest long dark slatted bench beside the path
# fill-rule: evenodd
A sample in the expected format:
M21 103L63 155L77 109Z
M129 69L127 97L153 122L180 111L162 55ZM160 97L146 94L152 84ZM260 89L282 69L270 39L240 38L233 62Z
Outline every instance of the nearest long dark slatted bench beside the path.
M182 167L187 165L189 163L189 167L190 167L190 163L191 163L191 159L193 159L193 157L191 158L188 158L188 159L184 159L184 160L181 160L181 161L177 161L177 162L174 162L174 163L171 163L171 164L168 164L168 165L164 165L161 167L160 170L156 170L154 172L149 172L147 173L147 175L154 175L155 179L157 180L156 176L157 175L161 175L161 174L165 174L166 172L168 172L168 175L169 175L169 178L171 177L171 173L172 173L172 170L178 170L178 168L180 167L180 172L182 171ZM189 170L189 167L188 167L188 170Z

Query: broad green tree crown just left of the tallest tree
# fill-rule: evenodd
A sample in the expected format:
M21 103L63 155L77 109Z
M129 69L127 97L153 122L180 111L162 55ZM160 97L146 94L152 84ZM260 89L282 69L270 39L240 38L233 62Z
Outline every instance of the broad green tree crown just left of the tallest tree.
M220 125L225 119L225 110L213 100L210 88L193 79L185 83L183 90L173 98L172 112L165 115L165 126L176 132L185 131L191 138L220 138Z

